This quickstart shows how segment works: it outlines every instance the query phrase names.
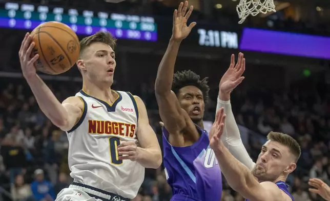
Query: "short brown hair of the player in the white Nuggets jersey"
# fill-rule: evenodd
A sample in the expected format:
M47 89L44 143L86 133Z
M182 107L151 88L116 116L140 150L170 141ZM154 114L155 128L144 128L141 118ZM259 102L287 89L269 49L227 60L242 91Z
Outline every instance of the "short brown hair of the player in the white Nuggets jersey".
M93 43L99 42L109 45L113 50L115 49L117 39L112 36L110 32L99 31L94 35L87 36L80 41L80 56L84 50Z

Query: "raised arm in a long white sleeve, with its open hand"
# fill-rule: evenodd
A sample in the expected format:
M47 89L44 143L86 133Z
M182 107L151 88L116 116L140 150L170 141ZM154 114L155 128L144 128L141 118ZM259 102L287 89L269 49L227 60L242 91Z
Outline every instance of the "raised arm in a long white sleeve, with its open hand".
M245 70L245 61L243 62L243 54L238 54L238 62L235 65L235 56L231 56L231 64L229 69L224 73L219 84L219 96L217 100L217 111L223 107L226 114L225 125L221 140L226 148L239 160L242 164L252 170L255 163L246 151L235 117L230 103L231 92L243 81L242 74Z

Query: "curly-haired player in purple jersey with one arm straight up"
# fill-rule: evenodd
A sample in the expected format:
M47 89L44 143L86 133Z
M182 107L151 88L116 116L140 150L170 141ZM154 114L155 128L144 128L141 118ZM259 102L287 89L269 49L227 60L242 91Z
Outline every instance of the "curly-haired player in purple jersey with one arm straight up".
M221 172L202 123L209 86L205 78L200 80L192 71L174 74L180 43L196 25L187 26L193 7L188 12L187 9L188 2L185 2L174 11L173 34L155 83L159 114L164 124L163 162L173 191L171 200L219 201Z

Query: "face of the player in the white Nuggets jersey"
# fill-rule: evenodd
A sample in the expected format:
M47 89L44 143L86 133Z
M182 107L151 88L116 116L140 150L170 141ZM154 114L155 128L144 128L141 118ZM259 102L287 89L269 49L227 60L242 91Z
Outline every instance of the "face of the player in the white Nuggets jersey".
M104 43L92 43L84 52L83 62L79 67L85 75L95 82L113 83L116 68L115 52Z

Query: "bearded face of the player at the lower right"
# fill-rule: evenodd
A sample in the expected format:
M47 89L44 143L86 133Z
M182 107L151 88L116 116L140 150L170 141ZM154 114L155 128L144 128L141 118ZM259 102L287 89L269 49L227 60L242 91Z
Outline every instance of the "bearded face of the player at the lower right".
M285 178L288 173L296 169L294 160L288 147L268 140L261 148L252 173L260 182L273 182L282 175Z

